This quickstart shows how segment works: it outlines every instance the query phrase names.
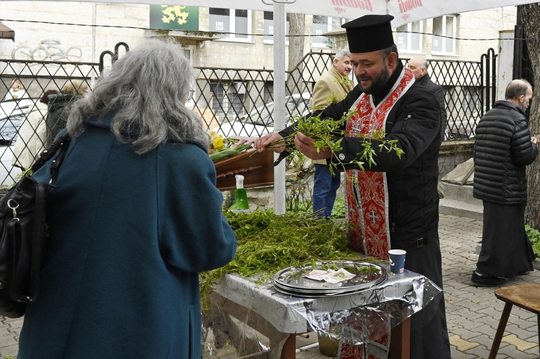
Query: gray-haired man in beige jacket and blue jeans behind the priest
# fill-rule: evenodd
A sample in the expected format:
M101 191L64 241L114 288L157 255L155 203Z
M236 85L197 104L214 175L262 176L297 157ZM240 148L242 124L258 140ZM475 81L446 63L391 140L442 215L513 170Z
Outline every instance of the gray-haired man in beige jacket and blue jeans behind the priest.
M340 50L334 57L333 67L315 83L315 88L313 89L313 107L325 108L330 103L339 102L345 98L348 92L354 87L352 79L348 78L352 69L350 52L348 50ZM339 173L335 176L330 174L326 159L315 160L313 164L315 165L313 211L322 210L319 215L320 217L330 217L341 177Z

